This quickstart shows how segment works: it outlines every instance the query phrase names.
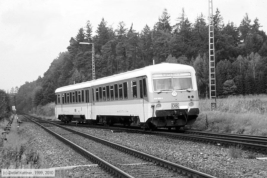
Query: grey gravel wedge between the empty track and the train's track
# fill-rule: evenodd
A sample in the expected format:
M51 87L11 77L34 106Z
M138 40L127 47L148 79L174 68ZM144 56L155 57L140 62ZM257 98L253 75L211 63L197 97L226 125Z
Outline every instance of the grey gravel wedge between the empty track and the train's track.
M198 143L165 136L115 132L96 128L69 126L77 131L106 139L182 166L220 178L266 178L267 160L250 159L267 157L267 154L242 150L242 158L229 157L230 148L221 145Z

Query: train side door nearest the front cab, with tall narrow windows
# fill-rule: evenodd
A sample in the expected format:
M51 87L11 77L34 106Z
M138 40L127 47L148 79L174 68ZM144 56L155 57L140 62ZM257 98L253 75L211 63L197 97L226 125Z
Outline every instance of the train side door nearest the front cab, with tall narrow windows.
M140 122L144 122L145 123L145 115L144 115L144 97L146 97L146 77L142 76L142 77L138 77L138 90L139 90L139 97L140 97L140 112L142 112L142 116L140 115ZM138 98L139 98L138 97Z

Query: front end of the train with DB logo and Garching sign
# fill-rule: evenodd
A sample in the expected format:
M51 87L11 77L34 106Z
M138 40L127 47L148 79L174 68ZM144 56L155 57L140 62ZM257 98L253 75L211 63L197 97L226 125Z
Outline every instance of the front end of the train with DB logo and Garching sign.
M193 124L199 114L196 74L191 66L166 63L165 67L151 73L146 123L149 128L179 129Z

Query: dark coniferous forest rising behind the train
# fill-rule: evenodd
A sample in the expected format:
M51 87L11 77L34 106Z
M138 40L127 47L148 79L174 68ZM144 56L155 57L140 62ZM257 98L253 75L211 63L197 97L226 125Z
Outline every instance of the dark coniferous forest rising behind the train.
M114 29L102 18L94 36L88 20L77 36L70 38L68 51L53 60L43 77L19 88L18 110L53 102L56 88L92 80L91 46L79 42L94 43L96 79L152 65L153 60L181 63L195 68L199 95L209 97L208 18L201 13L190 22L184 9L172 18L176 24L170 24L171 17L164 9L158 22L144 26L141 32L123 21ZM245 14L236 26L224 22L217 9L213 23L217 96L267 93L267 36L260 30L260 19L252 20Z

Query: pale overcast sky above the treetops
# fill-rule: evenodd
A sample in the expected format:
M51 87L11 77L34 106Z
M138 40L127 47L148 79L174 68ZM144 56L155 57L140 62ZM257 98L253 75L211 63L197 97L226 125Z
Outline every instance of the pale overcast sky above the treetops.
M43 77L87 20L93 34L102 17L114 29L124 21L140 32L146 24L152 28L164 8L174 25L182 7L194 23L201 12L208 16L209 0L0 0L0 89L10 91ZM259 19L260 30L267 30L265 0L213 0L213 14L217 7L225 23L239 26L248 13L252 22Z

